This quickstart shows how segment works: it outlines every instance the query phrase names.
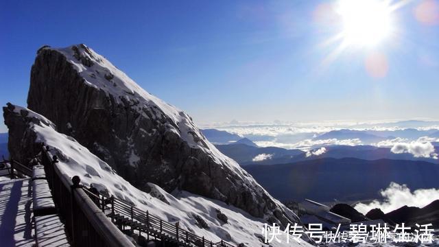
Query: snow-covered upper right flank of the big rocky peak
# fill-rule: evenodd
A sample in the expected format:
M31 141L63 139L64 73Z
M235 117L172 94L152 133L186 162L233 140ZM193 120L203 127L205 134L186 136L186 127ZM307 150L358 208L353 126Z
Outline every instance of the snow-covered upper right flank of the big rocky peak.
M175 106L167 104L158 97L148 93L136 82L115 67L104 56L97 54L93 49L84 44L71 45L66 48L49 48L62 53L73 68L80 73L84 82L95 89L103 90L108 95L112 95L118 104L130 104L141 111L143 107L155 108L156 114L150 116L154 119L166 118L169 121L169 131L174 131L180 135L191 147L206 148L204 138L198 130L191 117ZM146 113L145 113L146 115Z

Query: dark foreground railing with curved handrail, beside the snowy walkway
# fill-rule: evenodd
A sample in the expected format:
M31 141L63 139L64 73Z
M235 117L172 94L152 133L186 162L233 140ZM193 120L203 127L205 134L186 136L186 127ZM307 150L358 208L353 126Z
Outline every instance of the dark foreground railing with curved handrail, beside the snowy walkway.
M51 157L44 147L41 163L72 246L134 246L82 187L60 172L56 156Z

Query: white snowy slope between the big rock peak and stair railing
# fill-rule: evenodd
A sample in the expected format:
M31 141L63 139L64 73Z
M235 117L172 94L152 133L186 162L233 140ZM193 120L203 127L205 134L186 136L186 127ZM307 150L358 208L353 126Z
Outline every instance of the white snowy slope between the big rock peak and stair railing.
M60 162L57 165L67 178L78 175L85 186L93 184L102 193L131 202L139 209L148 210L168 222L180 222L180 227L207 239L219 241L222 238L234 244L246 243L246 246L262 245L257 236L262 236L263 219L252 217L245 211L228 206L224 202L187 191L176 191L171 194L151 183L150 193L140 191L118 176L109 165L75 139L57 132L56 126L45 117L20 106L14 108L16 115L23 115L26 111L28 130L36 133L35 142L45 143L49 146L51 154L58 156ZM32 118L40 121L34 121ZM217 219L217 210L228 217L227 224ZM195 225L194 214L200 215L210 228L198 228ZM299 244L291 238L289 244L275 242L272 246L310 245L304 241Z

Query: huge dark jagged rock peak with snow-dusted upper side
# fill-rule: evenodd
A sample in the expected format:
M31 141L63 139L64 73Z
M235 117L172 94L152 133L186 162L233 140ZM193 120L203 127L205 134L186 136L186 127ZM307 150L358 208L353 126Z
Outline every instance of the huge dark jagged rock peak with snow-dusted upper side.
M151 182L228 202L270 222L298 220L209 143L191 117L85 45L38 50L27 104L139 189Z

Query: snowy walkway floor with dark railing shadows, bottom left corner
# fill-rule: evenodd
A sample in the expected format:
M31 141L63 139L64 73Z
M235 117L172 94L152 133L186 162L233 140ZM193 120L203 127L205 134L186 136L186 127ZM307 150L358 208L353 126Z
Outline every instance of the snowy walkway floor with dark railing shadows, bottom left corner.
M0 246L34 246L29 179L0 181Z

